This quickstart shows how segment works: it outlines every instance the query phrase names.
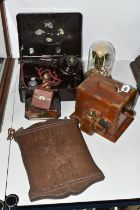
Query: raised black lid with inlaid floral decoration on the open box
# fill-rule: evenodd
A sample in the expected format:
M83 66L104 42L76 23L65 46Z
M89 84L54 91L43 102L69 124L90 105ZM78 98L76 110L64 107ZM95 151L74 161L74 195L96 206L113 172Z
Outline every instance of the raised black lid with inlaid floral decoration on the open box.
M81 57L80 13L22 13L17 15L17 26L21 57Z

